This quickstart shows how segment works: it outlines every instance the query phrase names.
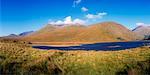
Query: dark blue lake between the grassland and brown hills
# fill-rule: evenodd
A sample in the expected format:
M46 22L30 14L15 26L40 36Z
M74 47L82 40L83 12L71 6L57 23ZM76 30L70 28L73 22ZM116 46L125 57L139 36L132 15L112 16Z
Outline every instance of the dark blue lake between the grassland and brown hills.
M81 44L80 46L54 47L54 46L32 46L38 49L57 49L57 50L124 50L141 46L150 46L150 41L131 41L131 42L107 42L94 44Z

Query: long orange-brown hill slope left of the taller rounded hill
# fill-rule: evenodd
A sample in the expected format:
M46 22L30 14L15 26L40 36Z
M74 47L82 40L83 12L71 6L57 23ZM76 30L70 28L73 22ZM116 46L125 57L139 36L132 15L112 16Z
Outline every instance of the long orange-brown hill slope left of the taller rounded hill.
M52 28L53 27L53 28ZM23 39L28 41L38 42L65 42L73 41L73 38L84 30L84 26L66 26L66 27L55 27L46 26L41 30L25 36Z

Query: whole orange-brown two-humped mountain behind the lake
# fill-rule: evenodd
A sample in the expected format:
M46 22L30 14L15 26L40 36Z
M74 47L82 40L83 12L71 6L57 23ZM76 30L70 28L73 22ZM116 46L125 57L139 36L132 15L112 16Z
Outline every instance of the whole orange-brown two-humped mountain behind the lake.
M46 27L24 36L32 42L114 42L136 40L137 35L121 24L103 22L94 25L66 25Z

